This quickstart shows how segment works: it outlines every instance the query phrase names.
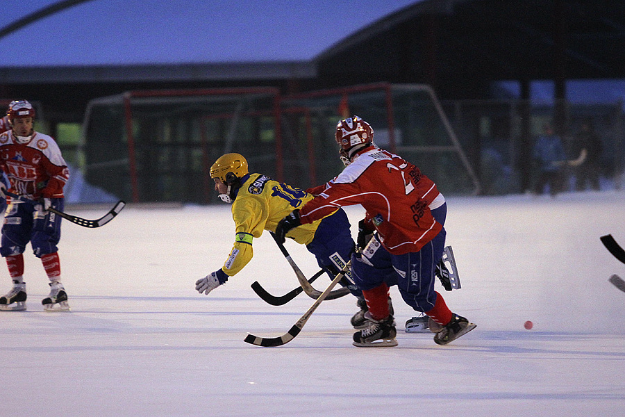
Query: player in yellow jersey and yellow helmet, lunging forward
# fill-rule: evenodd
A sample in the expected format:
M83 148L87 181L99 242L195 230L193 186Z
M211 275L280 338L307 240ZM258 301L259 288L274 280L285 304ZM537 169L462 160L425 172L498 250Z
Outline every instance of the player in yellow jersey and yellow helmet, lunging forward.
M260 238L264 230L276 231L278 222L295 208L313 199L313 195L299 188L280 183L263 174L250 174L247 161L240 154L225 154L210 167L210 177L215 181L219 198L232 203L235 222L235 243L226 262L215 272L199 279L196 290L208 294L224 284L247 265L253 256L253 238ZM293 229L286 235L317 258L317 263L332 278L340 271L335 262L346 263L351 259L355 243L351 238L350 224L342 209L325 218ZM360 311L352 318L352 325L365 325L365 304L362 293L349 282L353 295L358 297Z

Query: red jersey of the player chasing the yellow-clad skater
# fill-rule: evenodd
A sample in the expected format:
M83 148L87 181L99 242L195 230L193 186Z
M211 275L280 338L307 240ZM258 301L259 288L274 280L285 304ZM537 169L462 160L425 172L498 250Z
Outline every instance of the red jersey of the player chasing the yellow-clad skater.
M440 195L436 184L412 163L382 149L365 149L338 177L308 192L317 197L300 209L302 224L340 206L361 204L365 219L392 254L418 252L442 229L429 207Z

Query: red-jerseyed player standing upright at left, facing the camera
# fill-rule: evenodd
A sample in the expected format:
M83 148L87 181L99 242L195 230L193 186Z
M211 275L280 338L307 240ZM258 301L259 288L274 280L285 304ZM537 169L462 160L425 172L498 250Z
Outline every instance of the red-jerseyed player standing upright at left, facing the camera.
M50 136L34 131L35 109L28 101L12 101L7 117L10 130L0 134L0 168L8 176L10 192L31 199L33 203L6 197L0 186L0 197L8 200L0 255L6 259L13 282L11 291L0 297L0 310L26 309L23 254L30 242L50 281L50 294L42 300L44 309L67 311L67 293L60 282L56 246L60 240L61 218L48 208L63 211L63 187L69 178L69 170L56 142Z

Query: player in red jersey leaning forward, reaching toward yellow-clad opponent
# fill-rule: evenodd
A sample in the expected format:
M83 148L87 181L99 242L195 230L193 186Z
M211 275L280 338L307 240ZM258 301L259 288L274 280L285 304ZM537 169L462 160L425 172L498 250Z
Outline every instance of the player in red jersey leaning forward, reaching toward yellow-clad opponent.
M372 127L358 116L340 120L335 139L343 172L324 186L299 211L278 224L276 235L313 222L340 206L361 204L366 211L358 241L373 233L361 254L352 256L354 281L363 290L369 327L353 335L356 346L395 346L395 322L388 309L389 287L397 285L403 300L439 326L435 343L446 345L474 329L452 313L434 291L435 268L444 250L447 204L435 183L418 167L379 149Z

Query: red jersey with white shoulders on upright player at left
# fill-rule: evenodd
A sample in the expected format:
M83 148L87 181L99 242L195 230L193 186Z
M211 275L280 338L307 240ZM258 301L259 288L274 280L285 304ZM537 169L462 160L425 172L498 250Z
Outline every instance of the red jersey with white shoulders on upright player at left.
M0 168L11 183L9 191L31 199L63 197L69 179L58 145L39 132L26 145L19 144L12 131L0 134Z

